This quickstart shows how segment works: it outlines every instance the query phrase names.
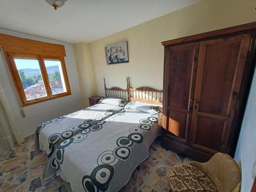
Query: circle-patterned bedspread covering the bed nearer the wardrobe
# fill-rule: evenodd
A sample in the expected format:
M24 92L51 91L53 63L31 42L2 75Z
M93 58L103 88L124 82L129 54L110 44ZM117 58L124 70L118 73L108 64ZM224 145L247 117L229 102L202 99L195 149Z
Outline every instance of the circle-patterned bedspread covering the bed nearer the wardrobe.
M161 117L125 110L61 142L52 166L76 191L118 191L148 157Z

